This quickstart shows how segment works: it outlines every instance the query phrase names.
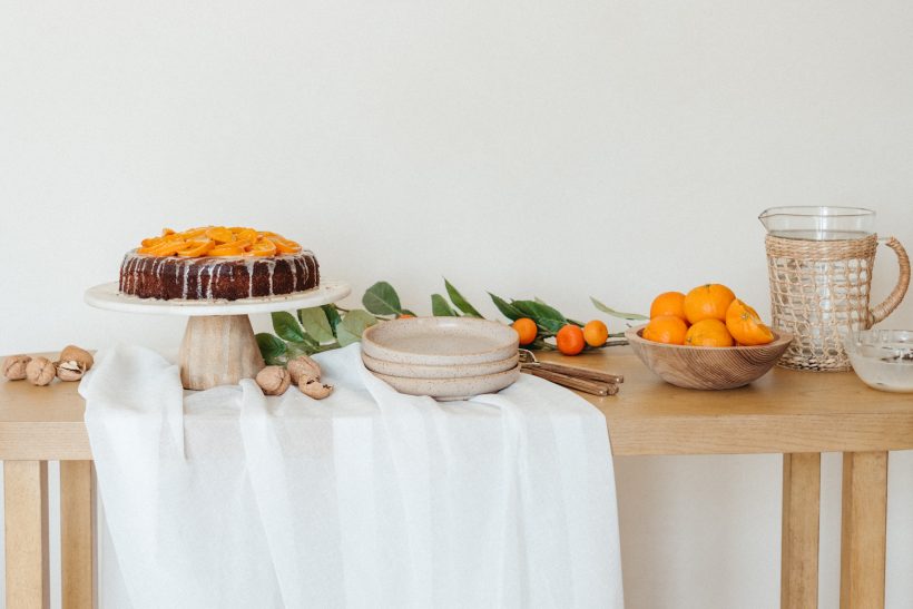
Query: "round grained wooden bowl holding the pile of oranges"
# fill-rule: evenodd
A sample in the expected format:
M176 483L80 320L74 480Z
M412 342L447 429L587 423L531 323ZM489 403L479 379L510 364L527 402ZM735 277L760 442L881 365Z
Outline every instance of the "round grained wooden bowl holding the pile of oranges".
M631 348L657 376L686 389L720 390L747 385L767 374L793 342L774 332L774 342L756 346L684 346L647 341L646 325L625 332Z

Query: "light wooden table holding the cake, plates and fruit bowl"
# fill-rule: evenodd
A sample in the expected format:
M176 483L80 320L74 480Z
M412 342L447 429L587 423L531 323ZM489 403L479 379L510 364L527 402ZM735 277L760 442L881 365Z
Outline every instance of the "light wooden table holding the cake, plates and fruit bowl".
M843 452L841 607L884 606L887 451L913 449L910 394L871 390L853 373L779 369L739 390L690 391L627 347L567 360L625 375L618 395L585 395L606 415L616 455L783 454L782 607L817 607L821 453ZM9 608L48 606L48 461L60 461L63 607L92 606L92 456L76 390L0 381Z

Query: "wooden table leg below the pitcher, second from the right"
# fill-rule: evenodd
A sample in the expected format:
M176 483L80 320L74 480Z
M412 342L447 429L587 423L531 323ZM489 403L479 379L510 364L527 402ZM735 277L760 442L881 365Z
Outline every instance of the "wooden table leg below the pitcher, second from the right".
M821 453L783 455L783 546L779 606L818 606Z

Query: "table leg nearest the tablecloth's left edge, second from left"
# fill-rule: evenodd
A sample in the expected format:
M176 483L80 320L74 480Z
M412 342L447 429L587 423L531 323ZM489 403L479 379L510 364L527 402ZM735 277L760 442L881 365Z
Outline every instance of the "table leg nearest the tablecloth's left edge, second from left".
M91 461L60 462L60 567L63 609L95 603Z

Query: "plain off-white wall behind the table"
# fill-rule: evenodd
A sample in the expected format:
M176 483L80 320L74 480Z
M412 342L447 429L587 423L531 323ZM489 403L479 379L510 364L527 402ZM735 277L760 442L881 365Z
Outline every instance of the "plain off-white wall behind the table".
M2 2L0 352L173 348L180 321L82 292L204 223L283 232L421 312L442 275L492 315L487 289L590 317L707 281L765 311L768 206L873 207L913 248L911 32L906 0ZM877 296L895 274L885 249ZM913 297L884 325L913 327ZM913 459L891 459L900 609ZM629 607L777 606L779 458L616 468ZM836 455L823 492L836 607Z

